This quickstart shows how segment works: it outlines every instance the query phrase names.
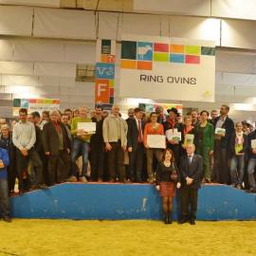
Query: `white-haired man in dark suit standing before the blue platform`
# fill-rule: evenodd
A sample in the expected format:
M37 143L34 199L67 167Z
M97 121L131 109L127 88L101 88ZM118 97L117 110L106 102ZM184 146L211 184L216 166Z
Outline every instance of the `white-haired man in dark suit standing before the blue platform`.
M179 224L190 222L195 225L197 193L203 177L203 158L201 155L195 155L194 150L194 145L188 144L187 155L181 156L180 159L182 218Z

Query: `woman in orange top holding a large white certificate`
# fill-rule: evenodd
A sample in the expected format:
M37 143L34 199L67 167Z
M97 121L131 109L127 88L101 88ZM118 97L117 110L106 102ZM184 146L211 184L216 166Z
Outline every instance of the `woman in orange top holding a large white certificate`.
M162 158L162 149L166 148L163 125L157 122L155 112L150 114L151 121L144 128L144 146L147 155L147 171L149 182L154 183L153 157L159 162Z

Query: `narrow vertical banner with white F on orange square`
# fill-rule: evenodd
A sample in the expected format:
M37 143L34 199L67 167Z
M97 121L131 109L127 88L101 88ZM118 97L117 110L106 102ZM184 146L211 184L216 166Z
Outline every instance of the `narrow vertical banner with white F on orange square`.
M116 41L98 39L96 49L95 103L114 103Z

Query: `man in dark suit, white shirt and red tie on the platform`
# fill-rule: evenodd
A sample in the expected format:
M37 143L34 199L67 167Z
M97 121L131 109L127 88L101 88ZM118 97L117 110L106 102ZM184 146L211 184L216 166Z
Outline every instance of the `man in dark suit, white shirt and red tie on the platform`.
M143 112L140 108L135 109L135 119L127 121L127 147L129 154L129 178L130 180L141 182L141 172L144 159L143 130L144 122L142 121Z

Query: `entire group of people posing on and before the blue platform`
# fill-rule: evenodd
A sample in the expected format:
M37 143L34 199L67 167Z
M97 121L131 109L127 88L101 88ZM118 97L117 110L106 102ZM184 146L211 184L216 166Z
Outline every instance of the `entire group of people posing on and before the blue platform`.
M220 116L215 110L192 111L184 120L175 108L168 110L167 117L161 108L149 116L140 108L129 109L126 120L118 105L113 105L111 113L96 105L91 113L81 107L74 112L44 111L42 116L38 112L28 115L21 108L19 120L11 127L1 122L3 216L8 219L6 194L14 192L16 178L20 194L89 179L156 184L163 197L165 223L172 223L175 189L181 188L181 223L194 224L201 182L242 189L247 170L248 189L256 191L256 132L248 133L248 126L241 122L234 125L228 114L228 105L221 106ZM94 122L95 131L82 129L85 122ZM170 138L168 131L180 137ZM166 136L165 146L152 146L152 136Z

